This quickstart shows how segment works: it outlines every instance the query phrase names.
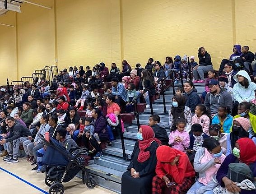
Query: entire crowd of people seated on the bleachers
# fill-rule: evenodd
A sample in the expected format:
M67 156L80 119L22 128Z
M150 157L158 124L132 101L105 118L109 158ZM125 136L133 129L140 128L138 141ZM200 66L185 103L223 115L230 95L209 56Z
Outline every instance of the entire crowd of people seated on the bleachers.
M124 60L121 71L115 63L109 71L100 63L86 71L83 66L63 69L52 83L56 93L44 79L14 86L9 93L1 90L0 157L19 162L23 147L27 161L35 165L32 170L45 171L47 147L39 134L49 132L67 151L84 146L98 159L102 144L111 146L124 132L121 112L132 113L134 100L145 101L149 108L151 96L159 98L164 78L178 83L185 77L172 97L170 134L156 114L149 117L149 125L140 126L122 176L122 194L255 193L256 60L248 46L240 50L240 45L233 47L219 73L201 47L198 64L194 56L188 63L186 55L166 57L164 65L149 58L144 69L140 64L131 69ZM204 82L205 92L199 96L194 83ZM78 110L86 110L85 116Z

